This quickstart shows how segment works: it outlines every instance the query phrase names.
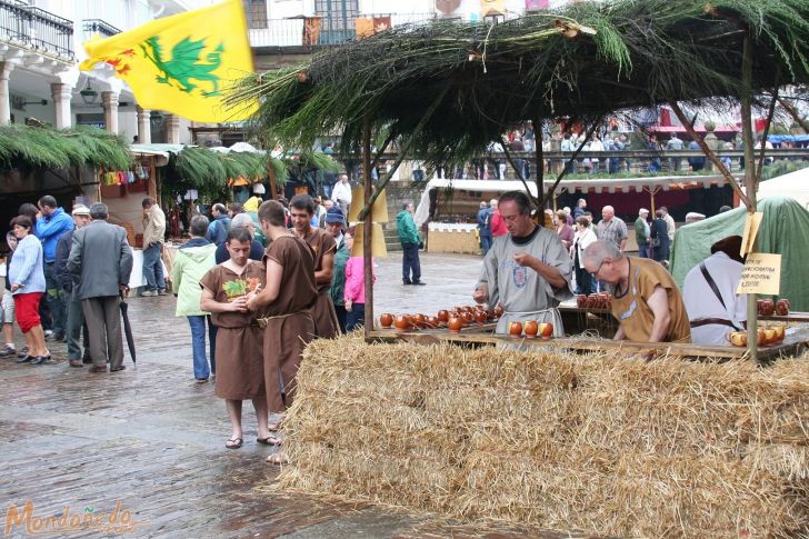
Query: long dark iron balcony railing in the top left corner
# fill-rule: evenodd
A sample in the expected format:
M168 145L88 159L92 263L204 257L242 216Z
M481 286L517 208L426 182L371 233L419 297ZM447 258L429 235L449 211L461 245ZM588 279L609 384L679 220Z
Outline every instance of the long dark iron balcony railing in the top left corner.
M73 22L19 0L0 0L0 41L76 58Z

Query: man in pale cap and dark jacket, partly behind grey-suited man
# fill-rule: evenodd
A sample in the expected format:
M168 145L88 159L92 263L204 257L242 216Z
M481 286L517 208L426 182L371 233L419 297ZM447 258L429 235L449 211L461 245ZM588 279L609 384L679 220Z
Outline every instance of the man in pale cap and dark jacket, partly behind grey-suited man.
M76 230L86 227L90 222L90 209L84 204L76 204L73 207L72 216ZM81 299L73 293L73 278L70 275L70 271L68 271L68 257L70 256L70 248L72 244L73 230L68 230L59 237L59 241L57 241L57 258L54 264L57 285L64 298L67 310L64 336L68 341L68 360L70 361L70 367L81 367L82 359L83 362L91 362L90 341L87 335L87 327L84 325L84 315L81 311ZM79 337L81 335L82 326L84 326L83 358L81 347L79 346Z

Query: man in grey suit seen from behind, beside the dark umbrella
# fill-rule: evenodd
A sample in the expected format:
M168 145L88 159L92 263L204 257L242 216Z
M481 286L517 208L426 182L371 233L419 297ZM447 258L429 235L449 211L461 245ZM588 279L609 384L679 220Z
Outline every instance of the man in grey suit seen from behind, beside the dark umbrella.
M114 372L126 368L119 295L128 289L132 249L127 231L107 222L107 204L92 204L90 217L92 222L73 233L68 271L90 329L90 372L107 372L108 358Z

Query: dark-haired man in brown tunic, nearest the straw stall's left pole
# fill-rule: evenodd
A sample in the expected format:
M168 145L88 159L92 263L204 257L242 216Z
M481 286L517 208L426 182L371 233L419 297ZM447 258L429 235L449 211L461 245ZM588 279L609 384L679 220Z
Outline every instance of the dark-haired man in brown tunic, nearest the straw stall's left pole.
M340 326L331 301L329 289L334 270L334 252L337 242L326 230L312 227L314 201L309 194L297 194L289 201L294 232L309 243L314 252L314 283L318 288L318 301L312 308L314 332L318 337L330 339L340 333Z

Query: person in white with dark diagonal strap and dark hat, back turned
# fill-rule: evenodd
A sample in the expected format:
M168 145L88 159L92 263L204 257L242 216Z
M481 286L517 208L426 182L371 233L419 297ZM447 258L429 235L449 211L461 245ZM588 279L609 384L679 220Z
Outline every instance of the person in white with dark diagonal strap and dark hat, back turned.
M737 295L745 268L741 236L711 246L711 256L697 264L682 283L682 300L696 345L727 345L728 335L747 326L747 295Z

